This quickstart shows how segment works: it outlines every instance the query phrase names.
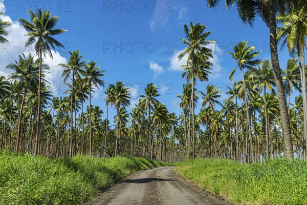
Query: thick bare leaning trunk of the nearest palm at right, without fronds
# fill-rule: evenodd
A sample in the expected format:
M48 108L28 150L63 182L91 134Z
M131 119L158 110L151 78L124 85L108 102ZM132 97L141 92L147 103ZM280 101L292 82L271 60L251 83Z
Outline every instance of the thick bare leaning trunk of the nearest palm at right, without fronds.
M283 151L284 155L291 159L293 158L293 144L291 138L290 118L288 114L287 99L284 92L282 83L278 52L277 52L277 39L276 39L276 11L273 5L273 1L269 2L269 25L270 25L270 49L271 49L271 61L274 71L275 84L278 95L281 129L283 137Z

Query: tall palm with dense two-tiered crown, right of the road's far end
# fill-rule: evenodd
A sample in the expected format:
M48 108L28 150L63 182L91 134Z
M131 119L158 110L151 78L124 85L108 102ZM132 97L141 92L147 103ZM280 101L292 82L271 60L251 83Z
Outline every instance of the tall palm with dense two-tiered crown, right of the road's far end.
M207 75L210 73L210 62L208 61L209 57L212 57L212 51L206 46L212 44L213 40L207 40L207 37L210 35L210 31L204 32L206 29L205 25L200 25L200 23L192 24L190 23L190 29L187 25L184 25L184 32L187 39L181 39L182 42L188 47L178 55L178 59L181 60L185 55L188 55L186 72L187 81L192 79L192 93L190 101L190 112L192 111L192 139L193 139L193 156L194 159L194 141L195 141L195 125L194 125L194 107L192 107L192 102L194 101L194 87L195 87L195 78L199 78L201 81L207 80ZM185 74L183 75L183 77ZM191 113L189 118L189 124L191 119ZM190 126L188 127L188 135L190 138ZM190 153L188 152L188 158L190 158Z

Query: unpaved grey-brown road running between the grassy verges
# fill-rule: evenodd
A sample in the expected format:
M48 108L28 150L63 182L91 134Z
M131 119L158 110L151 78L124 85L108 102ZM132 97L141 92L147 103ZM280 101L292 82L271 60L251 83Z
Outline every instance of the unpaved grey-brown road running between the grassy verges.
M173 171L173 167L163 167L136 172L85 204L217 205L229 203L184 180Z

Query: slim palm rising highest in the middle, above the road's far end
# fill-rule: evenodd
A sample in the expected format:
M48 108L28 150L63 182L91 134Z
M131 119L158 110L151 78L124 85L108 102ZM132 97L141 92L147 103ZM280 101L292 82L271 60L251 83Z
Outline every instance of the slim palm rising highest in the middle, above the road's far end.
M148 157L148 149L150 149L149 146L149 140L150 140L150 108L151 105L155 105L156 103L158 103L158 100L156 99L156 97L159 97L159 91L158 91L158 87L153 85L153 83L147 84L146 88L145 88L145 95L140 95L140 97L142 97L141 99L141 104L144 104L144 109L146 110L148 108L148 125L147 125L147 154L146 157Z

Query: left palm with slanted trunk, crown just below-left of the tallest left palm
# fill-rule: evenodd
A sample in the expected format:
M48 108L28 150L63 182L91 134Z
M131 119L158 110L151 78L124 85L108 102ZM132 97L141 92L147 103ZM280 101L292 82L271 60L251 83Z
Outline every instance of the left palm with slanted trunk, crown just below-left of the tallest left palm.
M38 84L38 76L39 76L39 59L34 60L34 56L31 53L28 57L23 55L19 55L19 60L15 61L15 63L9 64L7 69L11 69L14 73L9 75L9 79L18 80L19 84L24 88L23 99L21 100L19 117L18 117L18 129L17 129L17 142L16 142L16 152L18 152L19 148L19 138L20 138L20 129L21 129L21 115L23 113L25 98L27 95L27 90L32 89L36 90ZM45 77L45 71L49 70L49 66L46 64L41 65L41 77Z

